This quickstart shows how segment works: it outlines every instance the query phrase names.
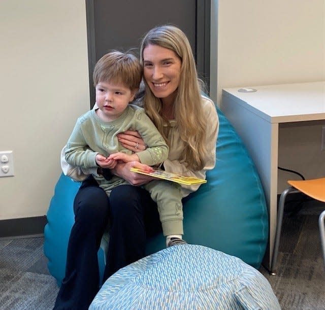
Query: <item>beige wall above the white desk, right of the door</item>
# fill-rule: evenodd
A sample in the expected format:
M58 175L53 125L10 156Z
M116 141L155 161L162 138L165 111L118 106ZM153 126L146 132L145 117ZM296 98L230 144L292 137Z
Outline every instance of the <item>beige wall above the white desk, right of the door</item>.
M324 0L212 0L212 14L214 100L226 87L325 79Z

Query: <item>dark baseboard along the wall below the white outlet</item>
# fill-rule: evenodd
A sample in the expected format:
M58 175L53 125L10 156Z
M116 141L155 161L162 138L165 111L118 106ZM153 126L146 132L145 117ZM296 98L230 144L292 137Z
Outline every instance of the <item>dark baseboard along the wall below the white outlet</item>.
M46 216L0 220L0 239L44 236Z

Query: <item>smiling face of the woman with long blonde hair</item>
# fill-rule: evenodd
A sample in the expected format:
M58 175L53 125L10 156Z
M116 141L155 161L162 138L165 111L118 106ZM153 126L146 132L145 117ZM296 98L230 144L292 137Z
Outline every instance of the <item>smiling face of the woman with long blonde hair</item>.
M163 104L172 104L179 85L181 60L174 51L158 45L143 50L144 78Z

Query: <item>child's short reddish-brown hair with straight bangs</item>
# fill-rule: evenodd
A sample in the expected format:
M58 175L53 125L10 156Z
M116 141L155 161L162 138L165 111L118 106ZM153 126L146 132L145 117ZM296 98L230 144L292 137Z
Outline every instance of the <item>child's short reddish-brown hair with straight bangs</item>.
M95 64L92 80L94 86L109 81L135 90L142 80L142 66L135 55L114 50Z

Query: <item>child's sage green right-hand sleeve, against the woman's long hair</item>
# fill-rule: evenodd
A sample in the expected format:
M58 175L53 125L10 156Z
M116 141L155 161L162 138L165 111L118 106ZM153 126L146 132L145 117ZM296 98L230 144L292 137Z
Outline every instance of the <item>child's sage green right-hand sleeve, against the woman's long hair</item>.
M144 143L148 146L146 150L138 152L141 163L149 166L162 163L168 157L169 148L158 129L143 109L136 111L135 129L140 133Z

